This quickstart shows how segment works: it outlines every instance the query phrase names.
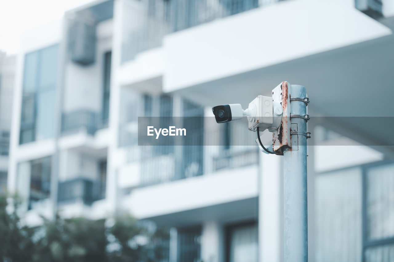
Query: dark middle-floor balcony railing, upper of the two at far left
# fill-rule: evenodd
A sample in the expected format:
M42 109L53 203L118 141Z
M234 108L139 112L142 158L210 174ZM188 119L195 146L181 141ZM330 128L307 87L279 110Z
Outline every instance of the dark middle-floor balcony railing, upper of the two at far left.
M63 113L61 132L65 135L85 131L89 135L94 135L98 129L107 126L108 119L103 119L101 114L83 109L70 113Z

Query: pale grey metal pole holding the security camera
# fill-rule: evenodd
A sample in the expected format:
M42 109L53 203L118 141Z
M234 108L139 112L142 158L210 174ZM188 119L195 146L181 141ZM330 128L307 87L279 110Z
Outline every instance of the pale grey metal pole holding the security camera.
M306 98L306 88L291 85L291 98ZM307 114L306 103L291 101L291 114ZM291 130L307 133L307 121L291 118ZM307 211L307 137L291 136L292 148L283 153L284 190L284 261L308 261L308 211Z

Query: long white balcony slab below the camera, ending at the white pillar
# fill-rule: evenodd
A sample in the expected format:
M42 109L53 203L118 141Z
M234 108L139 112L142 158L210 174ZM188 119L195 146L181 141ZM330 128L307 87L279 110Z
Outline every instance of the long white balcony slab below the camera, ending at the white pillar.
M136 188L122 207L147 218L256 197L257 189L257 167L248 166Z

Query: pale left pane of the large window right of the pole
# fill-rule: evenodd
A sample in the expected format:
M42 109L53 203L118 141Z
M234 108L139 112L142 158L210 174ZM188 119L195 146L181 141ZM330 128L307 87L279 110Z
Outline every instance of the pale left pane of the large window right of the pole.
M318 175L315 185L315 261L361 261L361 168Z

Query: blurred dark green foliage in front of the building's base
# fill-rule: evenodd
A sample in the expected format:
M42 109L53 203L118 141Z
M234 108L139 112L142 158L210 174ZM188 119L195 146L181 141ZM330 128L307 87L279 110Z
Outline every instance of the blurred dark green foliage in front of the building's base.
M22 225L13 198L0 196L0 261L7 262L156 262L168 260L169 234L123 214L108 220L86 218ZM8 200L10 201L10 200ZM10 210L12 209L12 212ZM7 212L8 211L8 212Z

